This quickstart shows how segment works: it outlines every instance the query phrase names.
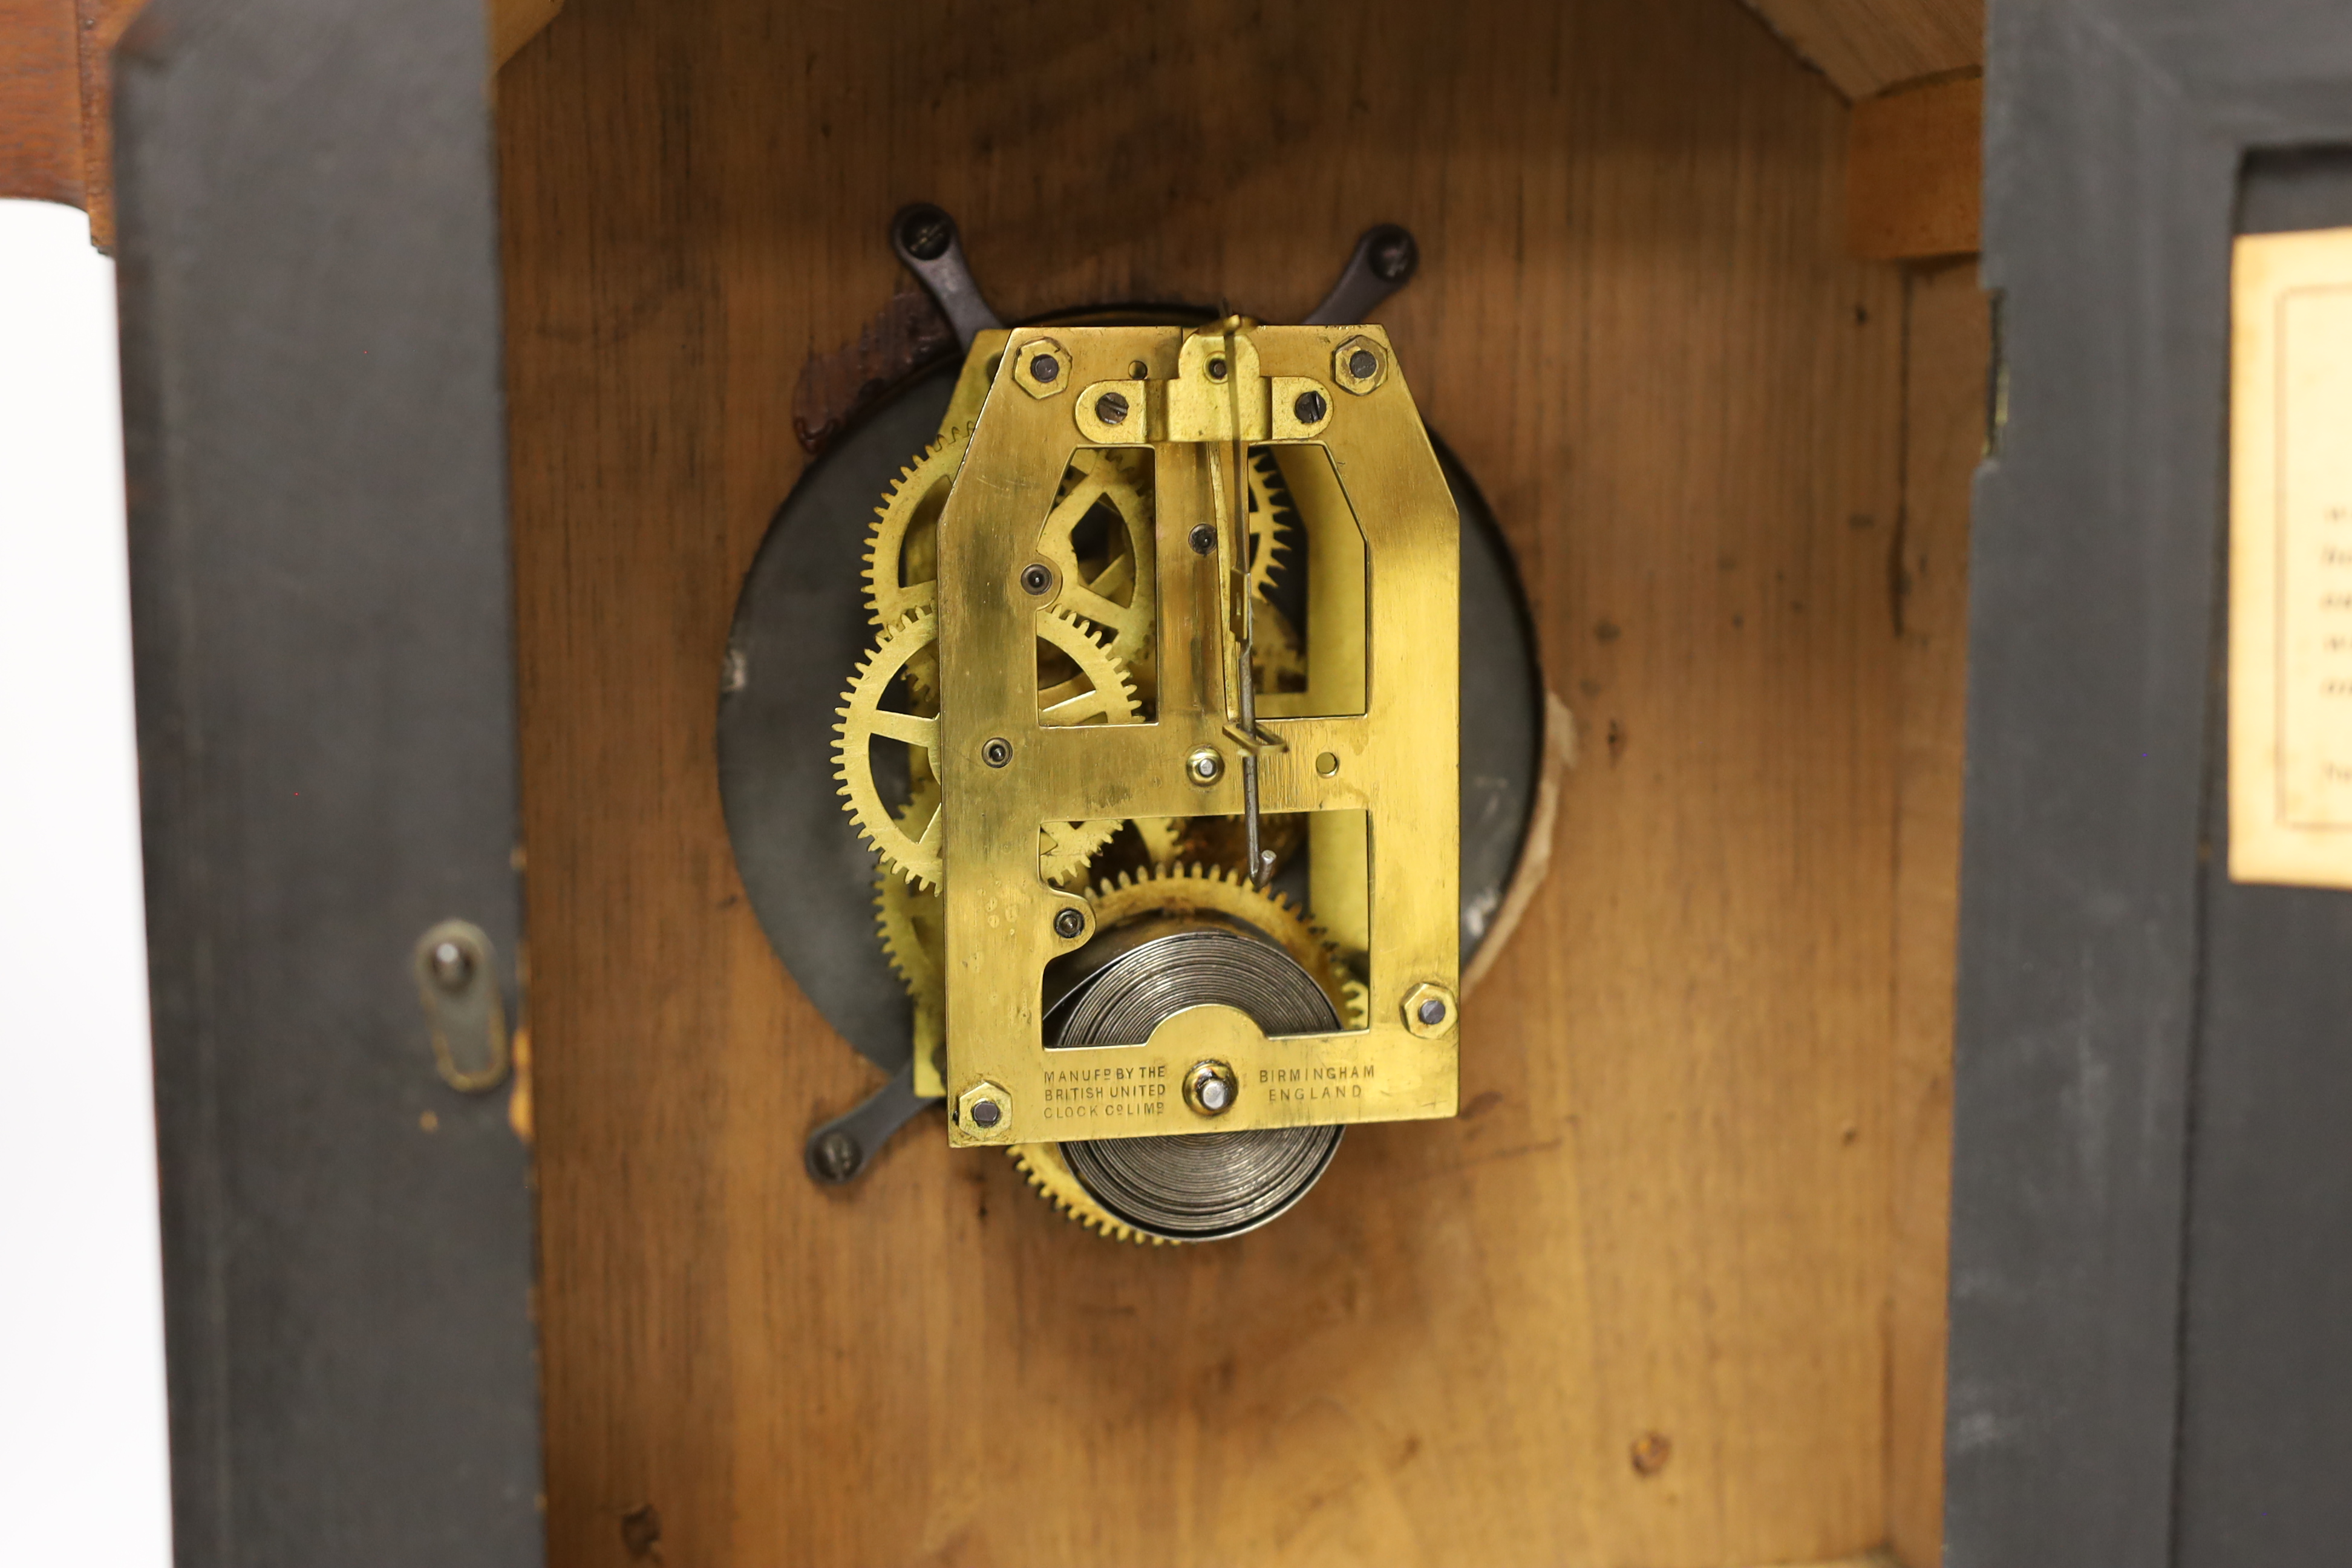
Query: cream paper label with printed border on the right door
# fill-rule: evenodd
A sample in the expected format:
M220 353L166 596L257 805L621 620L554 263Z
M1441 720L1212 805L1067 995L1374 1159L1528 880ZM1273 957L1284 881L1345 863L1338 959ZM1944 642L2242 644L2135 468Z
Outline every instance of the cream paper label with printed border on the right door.
M2237 240L2230 877L2352 886L2352 228Z

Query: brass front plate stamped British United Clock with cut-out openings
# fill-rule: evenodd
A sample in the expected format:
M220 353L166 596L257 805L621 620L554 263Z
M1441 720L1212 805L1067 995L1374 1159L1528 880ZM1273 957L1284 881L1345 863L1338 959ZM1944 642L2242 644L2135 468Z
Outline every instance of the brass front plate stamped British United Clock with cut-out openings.
M1225 353L1209 353L1211 343ZM1336 350L1355 343L1383 360L1383 374L1362 390L1334 376ZM1016 369L1037 353L1065 364L1051 381L1023 386ZM1028 656L1035 602L1018 574L1035 555L1070 454L1112 444L1096 416L1105 388L1136 409L1124 444L1152 449L1157 712L1145 724L1042 726ZM1315 409L1298 402L1305 390L1317 390L1327 411L1303 423L1298 409ZM1331 820L1369 823L1359 835L1369 837L1369 891L1357 914L1369 1027L1270 1041L1242 1013L1190 1009L1141 1046L1047 1051L1040 978L1073 947L1056 938L1054 917L1065 907L1084 912L1087 903L1040 877L1040 823L1242 811L1240 766L1225 766L1211 785L1185 776L1197 748L1237 762L1247 745L1218 630L1235 569L1228 503L1242 482L1242 442L1319 447L1334 501L1364 538L1362 712L1261 717L1270 743L1258 752L1258 788L1268 813L1362 813ZM1218 527L1214 552L1195 552L1188 541L1200 524ZM953 1119L950 1143L1456 1112L1458 1009L1444 1011L1442 1027L1416 1032L1404 999L1416 987L1454 997L1461 985L1458 552L1444 473L1376 327L1249 327L1240 341L1178 327L1009 336L938 522L946 1086L964 1095L990 1084L1009 1103L990 1128ZM1011 743L1004 766L985 762L990 741ZM1324 759L1336 762L1329 773ZM1237 1103L1214 1121L1192 1114L1181 1091L1185 1070L1202 1058L1230 1063L1240 1081Z

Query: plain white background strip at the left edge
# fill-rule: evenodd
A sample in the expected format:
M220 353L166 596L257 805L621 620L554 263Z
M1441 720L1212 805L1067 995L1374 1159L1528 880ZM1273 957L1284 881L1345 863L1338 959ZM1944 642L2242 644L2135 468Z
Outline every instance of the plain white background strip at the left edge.
M0 200L0 1556L167 1568L115 268Z

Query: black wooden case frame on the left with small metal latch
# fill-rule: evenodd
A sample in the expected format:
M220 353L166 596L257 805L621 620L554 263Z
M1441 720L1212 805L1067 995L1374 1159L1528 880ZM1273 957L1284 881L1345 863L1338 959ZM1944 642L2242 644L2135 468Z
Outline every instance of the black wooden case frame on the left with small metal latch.
M155 0L115 56L181 1568L543 1561L480 0Z

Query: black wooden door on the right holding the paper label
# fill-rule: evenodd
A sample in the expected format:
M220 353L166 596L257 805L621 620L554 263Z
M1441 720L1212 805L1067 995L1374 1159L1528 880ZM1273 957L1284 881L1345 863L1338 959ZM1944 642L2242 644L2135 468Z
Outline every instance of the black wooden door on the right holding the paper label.
M2352 223L2352 12L1994 0L1945 1561L2338 1563L2352 898L2230 882L2234 233Z

